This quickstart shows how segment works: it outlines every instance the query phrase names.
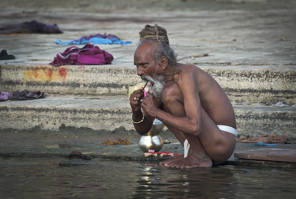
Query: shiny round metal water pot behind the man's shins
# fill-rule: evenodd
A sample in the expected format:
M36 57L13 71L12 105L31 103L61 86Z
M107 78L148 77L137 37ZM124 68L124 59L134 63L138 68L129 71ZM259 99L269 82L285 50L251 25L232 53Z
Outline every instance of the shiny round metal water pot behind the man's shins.
M139 141L139 148L144 153L148 153L148 150L154 150L154 152L158 152L163 148L163 140L159 136L159 133L163 130L164 124L155 119L152 124L152 128L148 133L141 136Z

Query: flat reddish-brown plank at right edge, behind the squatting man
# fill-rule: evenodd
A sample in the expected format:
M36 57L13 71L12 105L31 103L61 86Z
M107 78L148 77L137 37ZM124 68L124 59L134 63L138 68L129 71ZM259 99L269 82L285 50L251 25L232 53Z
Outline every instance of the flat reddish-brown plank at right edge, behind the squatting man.
M267 161L296 163L296 149L260 148L260 149L249 150L249 151L235 152L234 157L244 158L244 159L253 159L253 160L267 160Z

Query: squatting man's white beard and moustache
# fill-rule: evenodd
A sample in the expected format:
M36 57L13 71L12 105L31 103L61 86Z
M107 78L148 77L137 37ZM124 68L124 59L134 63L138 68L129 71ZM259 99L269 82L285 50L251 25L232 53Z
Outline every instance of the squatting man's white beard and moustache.
M161 91L163 90L163 87L165 85L165 77L163 75L156 75L153 74L153 77L150 77L148 75L142 75L141 79L145 82L152 82L153 86L151 87L151 90L156 98L160 98L161 100Z

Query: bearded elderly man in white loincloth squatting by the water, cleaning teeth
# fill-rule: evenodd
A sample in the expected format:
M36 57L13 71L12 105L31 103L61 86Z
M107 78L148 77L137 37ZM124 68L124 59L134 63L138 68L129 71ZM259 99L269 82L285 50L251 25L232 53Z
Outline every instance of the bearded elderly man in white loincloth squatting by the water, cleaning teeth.
M225 162L237 132L233 107L218 82L197 66L178 63L166 30L157 25L140 32L134 64L137 75L152 85L145 97L140 89L129 98L136 131L146 134L157 118L184 146L184 156L160 164L194 168Z

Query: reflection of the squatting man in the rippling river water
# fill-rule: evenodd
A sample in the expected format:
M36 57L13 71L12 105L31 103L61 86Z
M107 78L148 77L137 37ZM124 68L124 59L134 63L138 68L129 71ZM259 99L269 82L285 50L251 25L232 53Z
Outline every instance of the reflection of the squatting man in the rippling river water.
M145 165L136 176L130 198L235 198L236 178L230 169L175 169Z

